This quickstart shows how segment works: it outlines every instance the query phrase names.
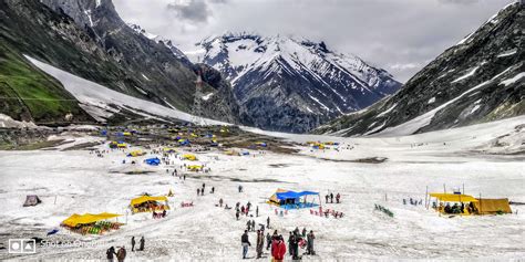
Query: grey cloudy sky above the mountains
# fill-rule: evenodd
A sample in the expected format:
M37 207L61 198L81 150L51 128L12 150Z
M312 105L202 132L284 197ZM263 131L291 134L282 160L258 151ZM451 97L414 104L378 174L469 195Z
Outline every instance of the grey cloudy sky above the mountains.
M514 0L113 0L183 51L227 31L325 41L405 82Z

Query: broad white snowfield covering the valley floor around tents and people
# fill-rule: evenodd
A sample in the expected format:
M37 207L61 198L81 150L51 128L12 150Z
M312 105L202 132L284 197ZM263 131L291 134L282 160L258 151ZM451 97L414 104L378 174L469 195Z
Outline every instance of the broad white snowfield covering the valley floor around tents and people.
M120 171L128 170L131 165L126 151L122 150L110 150L103 158L85 150L0 151L3 181L0 222L6 226L0 228L0 234L3 238L39 237L47 241L100 243L81 248L39 247L37 254L24 256L0 250L0 259L103 260L107 247L126 245L130 250L131 237L144 235L145 251L128 252L128 259L240 261L239 238L248 219L241 217L236 221L235 211L215 207L222 198L228 206L250 201L259 208L260 217L254 214L249 219L265 223L269 217L271 231L278 230L285 237L296 227L313 230L318 255L303 256L305 261L518 260L525 255L523 206L512 206L517 214L447 218L422 206L404 206L402 199L424 200L426 187L431 192L441 192L445 185L450 192L464 185L465 192L475 197L481 193L485 198L525 201L523 155L472 151L502 134L515 132L515 126L523 120L524 117L515 117L390 138L336 138L257 130L298 142L336 140L341 145L338 151L299 147L301 153L295 155L250 150L250 156L234 157L215 150L196 153L199 163L212 168L212 172L188 174L186 180L165 172L166 168L182 171L181 165L186 161L175 155L169 157L169 165L148 167L153 171L148 175L123 175ZM517 142L522 144L523 133L517 133L515 138L522 139ZM107 149L106 146L99 148ZM137 167L142 167L142 159L152 156L135 158ZM388 159L382 164L351 161L363 157ZM127 164L122 164L123 159ZM195 191L203 182L206 193L197 197ZM239 185L244 186L243 193L237 192ZM215 187L214 195L208 192L210 187ZM311 216L309 210L292 210L278 217L271 206L264 203L277 188L317 190L322 197L340 192L342 203L323 206L347 216L327 219ZM167 218L157 220L151 214L126 212L132 198L143 192L165 195L169 189L175 196L169 198L173 210ZM29 193L39 195L43 203L22 208ZM182 201L193 201L195 207L181 208ZM394 217L373 211L375 203L392 210ZM119 221L126 224L100 237L82 237L64 229L45 237L45 232L73 212L104 211L124 214ZM255 234L249 233L249 239L254 243ZM250 258L254 252L250 248Z

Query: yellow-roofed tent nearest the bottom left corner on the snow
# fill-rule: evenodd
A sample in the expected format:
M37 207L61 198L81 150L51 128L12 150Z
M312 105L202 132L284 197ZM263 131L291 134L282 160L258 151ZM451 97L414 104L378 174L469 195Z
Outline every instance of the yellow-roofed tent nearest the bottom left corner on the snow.
M121 214L107 212L84 214L73 213L71 217L62 221L61 226L81 234L102 234L110 230L116 230L122 226L119 222L106 221L120 216Z

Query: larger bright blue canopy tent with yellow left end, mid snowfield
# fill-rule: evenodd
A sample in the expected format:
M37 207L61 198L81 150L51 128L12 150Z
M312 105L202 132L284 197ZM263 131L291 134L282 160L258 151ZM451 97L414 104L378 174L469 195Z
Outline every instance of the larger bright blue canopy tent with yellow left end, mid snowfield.
M307 197L308 196L317 196L319 203L321 202L319 199L319 192L313 191L291 191L285 189L277 189L277 191L271 195L268 199L267 203L274 205L284 209L299 209L299 208L311 208L319 206L315 203L316 197L311 198L309 202Z

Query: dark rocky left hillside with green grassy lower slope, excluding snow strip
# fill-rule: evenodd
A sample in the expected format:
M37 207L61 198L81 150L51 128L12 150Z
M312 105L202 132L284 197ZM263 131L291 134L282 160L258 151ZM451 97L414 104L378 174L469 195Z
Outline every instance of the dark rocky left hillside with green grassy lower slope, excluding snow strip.
M0 44L21 63L28 65L21 55L27 54L117 92L191 111L199 67L176 55L166 44L150 40L125 24L111 0L0 0ZM29 69L39 72L31 65ZM17 72L10 73L10 80L20 76ZM39 82L32 93L49 93L50 85L42 83ZM35 99L17 92L21 88L10 86L8 90L6 85L2 92L10 92L20 103L11 102L9 109L1 113L37 123L56 120L64 112L87 119L60 84L54 84L54 88L60 90L53 91L60 95L56 97L68 99L53 103L41 99L39 103L45 106L40 112L47 117L42 118L38 112L20 114L22 107ZM208 117L238 122L235 101L219 97L224 91L209 84L205 85L205 92L218 94L215 103L205 104L210 106L205 108L210 114Z

